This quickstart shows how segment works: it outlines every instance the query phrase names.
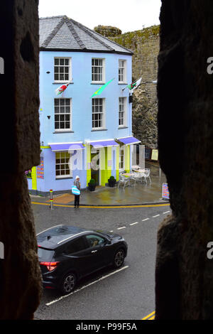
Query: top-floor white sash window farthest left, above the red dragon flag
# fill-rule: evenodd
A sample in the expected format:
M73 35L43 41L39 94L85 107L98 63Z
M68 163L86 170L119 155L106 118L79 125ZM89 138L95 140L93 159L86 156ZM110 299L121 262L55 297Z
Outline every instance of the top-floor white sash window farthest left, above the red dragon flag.
M59 82L71 80L71 58L54 58L54 80Z

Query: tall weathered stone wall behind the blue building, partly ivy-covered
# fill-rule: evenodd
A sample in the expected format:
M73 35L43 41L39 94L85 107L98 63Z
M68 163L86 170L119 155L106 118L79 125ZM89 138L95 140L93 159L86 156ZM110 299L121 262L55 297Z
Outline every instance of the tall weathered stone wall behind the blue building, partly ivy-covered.
M133 51L133 80L157 80L160 26L124 33L110 39ZM133 134L143 145L158 146L156 85L147 83L133 92Z

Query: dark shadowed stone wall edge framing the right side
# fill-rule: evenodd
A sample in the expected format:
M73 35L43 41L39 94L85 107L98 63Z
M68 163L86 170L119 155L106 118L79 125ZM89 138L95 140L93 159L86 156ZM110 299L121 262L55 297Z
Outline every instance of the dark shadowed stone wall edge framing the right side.
M173 215L158 230L155 319L213 318L212 1L162 0L158 149Z

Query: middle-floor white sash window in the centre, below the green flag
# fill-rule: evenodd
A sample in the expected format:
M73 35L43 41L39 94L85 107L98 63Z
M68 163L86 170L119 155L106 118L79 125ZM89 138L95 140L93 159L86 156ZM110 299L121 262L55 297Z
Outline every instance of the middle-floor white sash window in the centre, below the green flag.
M92 129L104 128L104 99L92 99Z

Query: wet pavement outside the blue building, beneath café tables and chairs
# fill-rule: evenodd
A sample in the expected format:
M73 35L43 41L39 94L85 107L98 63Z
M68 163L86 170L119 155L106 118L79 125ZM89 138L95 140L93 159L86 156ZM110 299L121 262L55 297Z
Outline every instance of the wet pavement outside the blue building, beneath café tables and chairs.
M162 184L166 183L166 178L163 172L159 175L159 168L156 163L146 162L146 168L151 168L151 184L147 179L146 182L136 183L136 185L126 186L120 185L117 188L98 186L94 191L82 190L80 196L80 205L141 205L168 203L162 200ZM50 203L49 197L41 197L30 195L31 200L40 203ZM74 195L70 193L53 195L54 204L74 204Z

